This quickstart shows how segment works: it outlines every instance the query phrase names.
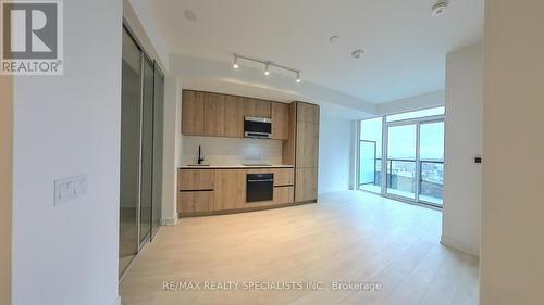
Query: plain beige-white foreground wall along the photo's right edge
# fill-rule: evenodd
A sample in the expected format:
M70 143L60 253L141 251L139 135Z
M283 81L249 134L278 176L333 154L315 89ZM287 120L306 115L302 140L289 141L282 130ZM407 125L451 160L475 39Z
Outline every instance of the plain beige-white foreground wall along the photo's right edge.
M543 304L544 1L485 10L482 305Z

